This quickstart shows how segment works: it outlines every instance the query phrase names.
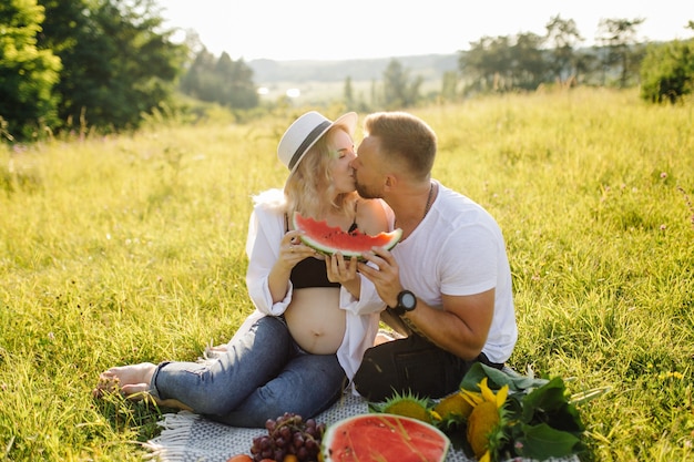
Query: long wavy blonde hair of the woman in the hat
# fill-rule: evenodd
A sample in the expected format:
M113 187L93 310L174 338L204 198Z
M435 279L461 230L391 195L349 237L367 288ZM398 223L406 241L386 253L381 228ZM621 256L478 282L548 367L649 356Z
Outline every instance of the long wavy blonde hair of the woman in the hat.
M330 166L337 160L333 137L338 130L349 134L345 126L335 125L330 127L308 150L296 171L287 179L284 194L287 201L286 212L289 217L294 212L298 212L303 216L324 219L328 212L349 215L354 211L354 203L358 197L356 191L340 193L336 196L330 175ZM330 199L326 201L328 197Z

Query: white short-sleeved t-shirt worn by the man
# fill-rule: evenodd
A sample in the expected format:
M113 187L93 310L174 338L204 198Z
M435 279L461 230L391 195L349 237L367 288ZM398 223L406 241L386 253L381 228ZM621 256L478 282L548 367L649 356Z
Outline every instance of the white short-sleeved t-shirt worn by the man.
M502 363L513 351L518 327L501 229L479 204L437 184L439 193L425 219L392 249L400 281L432 307L442 307L441 294L494 288L494 316L482 352Z

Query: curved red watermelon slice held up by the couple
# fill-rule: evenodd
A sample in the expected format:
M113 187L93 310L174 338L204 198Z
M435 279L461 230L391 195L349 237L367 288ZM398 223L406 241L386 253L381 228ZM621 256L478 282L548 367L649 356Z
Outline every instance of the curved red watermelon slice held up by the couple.
M379 233L369 236L359 230L347 233L337 226L328 226L327 222L317 222L294 213L294 228L304 232L302 242L325 255L338 251L347 258L360 258L361 254L370 251L372 247L385 247L390 250L402 237L402 229L390 233Z

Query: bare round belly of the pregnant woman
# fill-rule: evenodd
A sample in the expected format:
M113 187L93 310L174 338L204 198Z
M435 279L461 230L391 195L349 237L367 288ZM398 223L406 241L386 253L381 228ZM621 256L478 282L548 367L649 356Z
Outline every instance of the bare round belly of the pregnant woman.
M345 311L339 289L308 287L294 291L285 319L294 340L314 355L333 355L345 336Z

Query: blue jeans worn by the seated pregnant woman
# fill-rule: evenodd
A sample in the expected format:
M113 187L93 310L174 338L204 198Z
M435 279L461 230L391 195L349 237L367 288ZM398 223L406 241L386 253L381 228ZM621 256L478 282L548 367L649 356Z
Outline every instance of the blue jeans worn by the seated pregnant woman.
M215 359L162 362L150 388L154 397L178 400L211 420L263 428L285 412L315 417L346 383L336 355L305 352L283 318L266 316Z

